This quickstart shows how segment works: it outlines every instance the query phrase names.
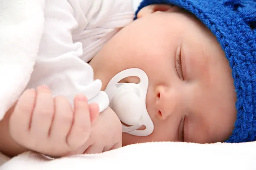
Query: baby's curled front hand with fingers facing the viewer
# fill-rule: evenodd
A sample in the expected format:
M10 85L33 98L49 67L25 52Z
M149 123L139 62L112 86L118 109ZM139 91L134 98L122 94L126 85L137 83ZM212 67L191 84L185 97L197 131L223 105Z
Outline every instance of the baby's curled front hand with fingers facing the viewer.
M87 141L98 114L98 105L88 105L85 96L75 97L73 111L66 98L54 98L49 88L41 86L20 96L9 119L10 135L30 150L65 156Z

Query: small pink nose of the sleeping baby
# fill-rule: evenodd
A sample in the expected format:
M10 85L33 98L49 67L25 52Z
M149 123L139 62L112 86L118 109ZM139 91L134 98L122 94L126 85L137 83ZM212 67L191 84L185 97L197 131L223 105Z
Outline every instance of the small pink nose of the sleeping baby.
M177 92L173 88L167 86L158 86L156 89L156 108L160 119L168 118L177 108L178 97Z

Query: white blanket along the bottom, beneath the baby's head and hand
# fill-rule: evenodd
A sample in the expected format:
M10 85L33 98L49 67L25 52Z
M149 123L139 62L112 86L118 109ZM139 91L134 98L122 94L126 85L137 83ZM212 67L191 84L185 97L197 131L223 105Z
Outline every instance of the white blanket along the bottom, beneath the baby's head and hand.
M255 153L256 142L154 142L61 159L24 153L3 164L0 170L255 170Z

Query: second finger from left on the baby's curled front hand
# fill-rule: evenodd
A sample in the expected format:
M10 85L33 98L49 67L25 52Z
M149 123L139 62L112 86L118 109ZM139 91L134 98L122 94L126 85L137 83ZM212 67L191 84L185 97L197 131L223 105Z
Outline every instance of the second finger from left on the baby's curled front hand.
M30 132L33 139L40 141L48 138L53 116L54 102L51 91L46 86L40 86L37 88L37 98L31 121Z

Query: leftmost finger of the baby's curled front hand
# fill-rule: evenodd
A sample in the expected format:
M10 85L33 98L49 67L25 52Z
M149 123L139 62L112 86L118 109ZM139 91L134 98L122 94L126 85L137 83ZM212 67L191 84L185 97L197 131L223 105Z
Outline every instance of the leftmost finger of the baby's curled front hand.
M26 134L29 134L35 99L36 91L34 89L24 91L9 119L10 135L23 146L26 145Z

